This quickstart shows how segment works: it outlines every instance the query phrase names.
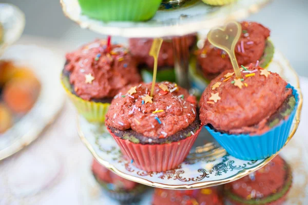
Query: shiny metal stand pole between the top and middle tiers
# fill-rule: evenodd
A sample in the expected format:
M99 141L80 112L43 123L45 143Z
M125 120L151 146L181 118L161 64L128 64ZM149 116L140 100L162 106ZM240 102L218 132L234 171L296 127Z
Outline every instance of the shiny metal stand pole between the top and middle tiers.
M184 36L172 39L177 83L186 89L190 88L188 79L189 49Z

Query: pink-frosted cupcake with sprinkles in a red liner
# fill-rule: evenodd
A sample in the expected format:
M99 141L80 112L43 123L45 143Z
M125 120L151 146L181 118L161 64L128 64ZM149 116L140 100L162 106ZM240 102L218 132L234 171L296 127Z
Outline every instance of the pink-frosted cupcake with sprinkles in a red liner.
M174 83L124 88L111 102L106 126L127 160L148 172L175 169L189 154L201 125L194 96Z

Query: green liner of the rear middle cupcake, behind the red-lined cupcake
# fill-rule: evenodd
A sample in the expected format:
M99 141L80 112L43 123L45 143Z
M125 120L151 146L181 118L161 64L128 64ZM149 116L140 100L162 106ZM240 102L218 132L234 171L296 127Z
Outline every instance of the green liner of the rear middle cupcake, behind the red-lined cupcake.
M150 71L148 69L141 69L141 77L144 82L150 83L153 80L153 71ZM156 75L156 82L162 82L162 81L175 82L176 81L175 69L170 67L158 70Z

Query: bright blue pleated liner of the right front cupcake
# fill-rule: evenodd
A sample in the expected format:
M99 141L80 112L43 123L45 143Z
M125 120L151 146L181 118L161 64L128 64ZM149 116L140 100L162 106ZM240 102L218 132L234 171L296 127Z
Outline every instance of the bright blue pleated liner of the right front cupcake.
M278 125L262 135L229 135L216 132L208 125L205 128L233 157L241 160L259 160L272 156L284 146L290 134L299 102L297 90L290 84L286 88L292 88L293 90L292 93L296 100L294 110L287 119L282 120Z

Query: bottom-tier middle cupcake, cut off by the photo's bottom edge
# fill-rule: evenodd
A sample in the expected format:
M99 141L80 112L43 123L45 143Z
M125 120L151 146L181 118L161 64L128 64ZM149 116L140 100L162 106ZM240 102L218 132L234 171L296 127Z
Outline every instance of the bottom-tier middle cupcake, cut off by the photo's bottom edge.
M217 187L197 190L155 189L152 205L222 205Z

